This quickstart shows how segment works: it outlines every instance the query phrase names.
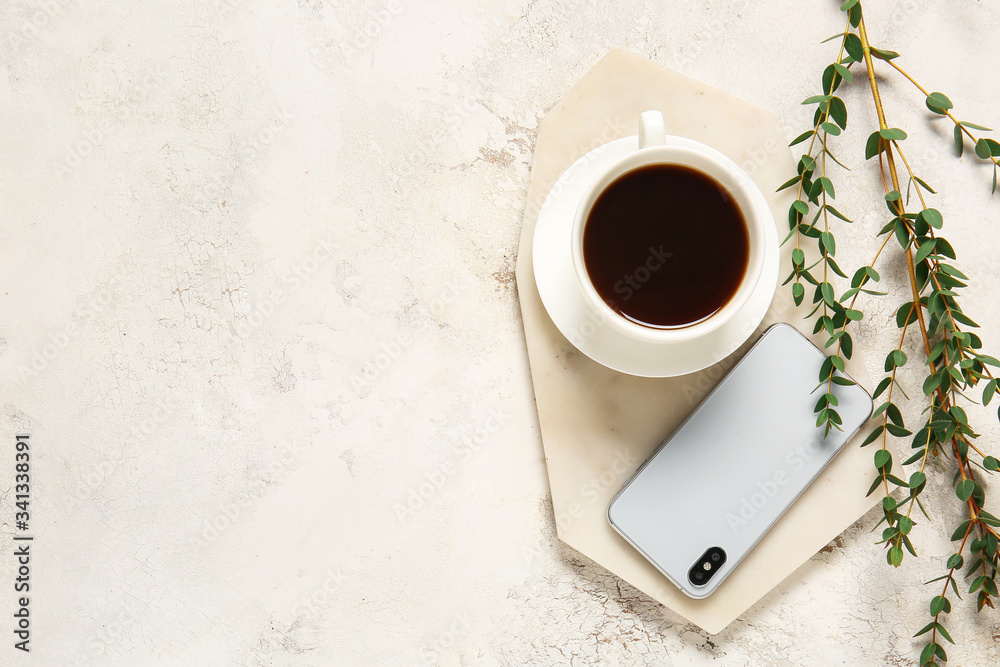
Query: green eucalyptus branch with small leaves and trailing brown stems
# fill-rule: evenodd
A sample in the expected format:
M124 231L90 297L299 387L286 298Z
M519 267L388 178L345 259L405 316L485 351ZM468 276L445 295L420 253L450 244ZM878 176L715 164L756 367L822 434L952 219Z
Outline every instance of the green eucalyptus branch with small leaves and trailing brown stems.
M797 186L796 199L788 212L789 234L785 238L787 242L794 237L796 247L792 252L791 272L784 284L792 283L792 298L796 305L801 305L805 299L804 283L814 286L811 300L813 307L806 317L815 318L813 333L825 332L826 347L836 345L835 351L827 357L820 370L820 384L817 390L825 386L825 391L815 406L817 426L823 427L824 433L829 433L831 429L839 429L842 424L837 413L834 385L853 384L843 375L843 371L845 361L851 358L854 348L854 341L848 328L851 322L864 318L864 313L857 305L858 298L861 294L884 295L883 292L876 292L868 286L880 280L874 267L886 247L890 246L890 240L895 239L898 243L900 255L907 268L910 298L896 308L896 325L900 330L899 342L887 354L886 376L873 392L875 399L885 394L883 402L875 409L873 415L875 418L880 418L880 423L868 434L862 446L867 446L876 440L881 441L880 448L874 455L877 476L868 493L870 495L882 488L883 516L875 528L883 523L886 524L879 543L886 549L886 560L895 567L902 564L905 552L914 557L917 555L910 539L916 525L911 518L913 506L916 505L924 516L930 518L920 498L927 483L928 461L934 457L946 470L952 468L955 474L953 482L955 494L962 503L966 518L954 530L952 540L961 542L957 552L947 561L947 572L932 580L945 581L942 593L935 596L930 603L933 620L915 635L930 633L929 641L920 656L920 664L932 665L937 664L938 660L947 661L947 655L939 638L943 637L954 643L942 622L941 615L951 611L949 588L956 597L961 597L958 591L958 579L962 568L965 567L964 554L968 554L972 561L965 572L965 578L975 575L969 586L969 593L977 594L978 609L993 607L994 600L998 597L1000 548L998 548L996 529L1000 527L1000 520L984 509L985 490L978 481L980 472L977 472L976 468L981 469L983 473L990 473L997 470L1000 465L996 458L985 454L975 445L974 440L979 435L969 424L968 416L960 402L981 401L983 405L990 404L993 396L1000 393L1000 380L994 376L989 367L1000 367L1000 361L982 352L982 340L971 331L978 325L964 313L959 304L959 290L966 286L964 281L968 278L954 265L955 251L941 235L943 215L928 205L928 198L936 192L917 175L903 150L903 143L907 140L906 132L888 123L879 82L875 75L875 61L887 63L892 70L909 80L925 95L925 103L929 110L949 118L954 123L955 143L960 156L964 138L967 137L974 143L977 157L993 165L994 191L997 185L997 171L1000 168L998 160L1000 143L974 135L971 130L982 132L990 130L968 121L960 121L952 114L951 109L954 107L946 95L928 92L894 62L899 54L879 49L870 43L861 3L858 0L847 0L841 5L841 9L847 12L847 25L843 32L826 40L839 40L840 48L834 62L823 72L822 94L803 102L816 105L813 127L799 135L791 144L795 146L808 139L808 147L798 161L797 176L779 188ZM853 65L863 66L865 69L867 87L878 117L878 128L868 137L865 159L878 158L889 220L877 235L882 237L878 252L868 264L855 271L850 281L850 288L838 296L833 284L837 278L830 274L842 279L846 279L847 275L834 259L837 241L831 216L846 223L851 221L830 204L836 194L827 169L827 158L847 168L830 150L830 139L839 136L847 129L847 107L835 93L842 83L852 82ZM905 199L901 187L900 163L905 168L905 176L908 178ZM908 212L907 205L914 186L919 209L916 212ZM807 216L812 217L807 220ZM818 224L820 216L823 219L822 228ZM819 259L808 266L803 247L805 239L813 239L819 253ZM895 245L892 244L892 247ZM821 267L821 274L816 271L817 267ZM907 363L907 355L903 348L908 332L914 329L919 333L923 348L922 365L925 366L925 373L922 390L925 400L929 403L925 410L924 422L916 433L906 427L902 411L897 404L897 391L909 399L897 381L897 371ZM970 397L971 390L980 386L981 395L978 398ZM893 439L908 440L910 449L913 450L912 455L896 468L900 471L899 474L905 474L902 471L906 466L919 462L919 469L909 475L908 481L894 474L893 457L889 447L890 436ZM978 460L970 458L970 451L980 458ZM907 495L897 501L892 495L894 487L906 489Z

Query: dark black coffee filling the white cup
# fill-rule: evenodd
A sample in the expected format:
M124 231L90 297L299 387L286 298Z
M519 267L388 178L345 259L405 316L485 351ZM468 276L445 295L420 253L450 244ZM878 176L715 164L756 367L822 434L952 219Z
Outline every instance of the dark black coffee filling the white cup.
M740 288L750 259L735 199L690 167L653 164L612 181L583 232L598 295L623 317L657 329L701 322Z

